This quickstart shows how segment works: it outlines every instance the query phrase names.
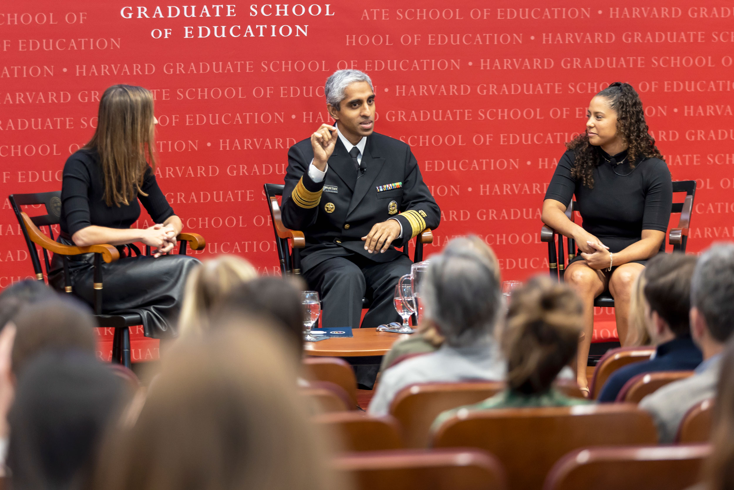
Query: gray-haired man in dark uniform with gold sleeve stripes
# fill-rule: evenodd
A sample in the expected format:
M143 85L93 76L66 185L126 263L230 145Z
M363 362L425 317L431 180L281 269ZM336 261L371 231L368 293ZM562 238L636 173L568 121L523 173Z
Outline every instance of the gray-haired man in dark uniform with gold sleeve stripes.
M393 295L412 262L396 250L436 228L440 209L410 146L375 133L374 91L366 73L340 70L324 87L335 126L322 124L288 151L283 224L303 231L301 270L323 302L324 327L399 321Z

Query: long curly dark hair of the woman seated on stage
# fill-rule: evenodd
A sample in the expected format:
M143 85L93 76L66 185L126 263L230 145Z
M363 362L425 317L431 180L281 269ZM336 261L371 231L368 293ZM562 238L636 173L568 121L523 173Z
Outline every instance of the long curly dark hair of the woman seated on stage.
M631 168L635 167L638 160L645 158L664 160L655 146L655 138L647 132L642 101L631 84L614 82L597 93L597 96L606 98L611 109L617 112L617 134L627 145L627 158ZM586 132L566 143L566 148L575 153L571 175L591 189L594 187L594 169L601 161L599 148L589 143Z

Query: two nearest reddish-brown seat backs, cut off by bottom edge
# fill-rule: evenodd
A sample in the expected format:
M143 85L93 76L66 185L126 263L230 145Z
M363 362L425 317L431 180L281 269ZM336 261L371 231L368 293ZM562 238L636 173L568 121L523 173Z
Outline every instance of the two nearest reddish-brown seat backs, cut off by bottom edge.
M513 483L497 458L468 448L351 453L335 467L357 490L683 490L697 482L710 451L708 444L580 448L534 486Z

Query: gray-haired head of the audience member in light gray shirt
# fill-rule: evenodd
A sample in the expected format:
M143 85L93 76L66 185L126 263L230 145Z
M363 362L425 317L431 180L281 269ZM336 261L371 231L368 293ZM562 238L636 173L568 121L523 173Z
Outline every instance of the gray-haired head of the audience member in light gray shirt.
M426 320L451 347L492 335L501 311L499 281L490 262L473 248L451 243L429 259L421 297Z

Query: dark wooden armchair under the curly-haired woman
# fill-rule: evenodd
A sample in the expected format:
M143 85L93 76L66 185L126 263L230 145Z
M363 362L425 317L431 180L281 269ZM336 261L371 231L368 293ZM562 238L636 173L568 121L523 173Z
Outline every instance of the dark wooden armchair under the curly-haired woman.
M688 242L688 228L691 226L691 215L693 214L693 201L696 194L696 181L673 181L673 193L686 192L686 198L682 203L673 203L672 214L680 214L678 226L671 228L668 241L673 245L673 251L686 253ZM566 209L566 216L573 221L573 212L578 211L576 201L571 201ZM558 248L556 249L556 236L558 237ZM566 256L564 254L563 236L548 225L543 225L540 230L540 240L548 243L548 268L552 278L563 281L566 268ZM573 238L566 238L568 249L568 260L576 256L576 244ZM661 245L661 251L665 251L665 242ZM614 298L608 291L598 295L594 300L594 306L611 306L614 308Z

